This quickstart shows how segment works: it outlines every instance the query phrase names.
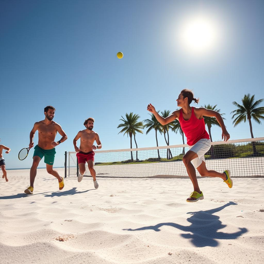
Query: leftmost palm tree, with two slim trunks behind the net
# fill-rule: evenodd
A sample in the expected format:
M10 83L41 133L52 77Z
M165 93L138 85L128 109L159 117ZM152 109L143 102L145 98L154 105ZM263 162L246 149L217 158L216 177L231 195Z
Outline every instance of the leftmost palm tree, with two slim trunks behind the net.
M139 115L136 115L136 114L133 114L133 112L130 112L130 114L126 113L126 119L124 119L124 117L122 117L122 119L119 119L123 121L123 123L119 124L117 128L123 128L119 133L124 132L124 135L129 135L130 148L132 148L132 135L134 135L134 140L136 143L136 138L135 138L136 132L143 134L143 131L140 130L140 129L143 129L143 123L141 121L138 122L139 118L140 118ZM136 144L136 148L138 148L137 144ZM138 160L138 152L136 152L136 160ZM131 161L133 161L132 151L131 151Z

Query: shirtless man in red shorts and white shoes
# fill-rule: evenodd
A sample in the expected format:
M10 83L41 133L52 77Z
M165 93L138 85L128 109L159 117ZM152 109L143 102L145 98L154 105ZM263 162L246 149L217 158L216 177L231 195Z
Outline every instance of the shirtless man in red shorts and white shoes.
M86 119L83 123L83 125L86 127L86 129L79 131L76 137L73 139L73 145L75 148L75 151L77 152L76 156L78 158L79 163L79 175L78 175L78 182L81 182L83 175L85 173L85 163L88 163L89 171L93 177L93 185L95 188L98 188L98 182L96 180L96 172L93 168L94 160L95 160L95 153L93 150L102 148L101 141L99 139L98 134L93 131L93 122L95 120L92 117L89 117ZM76 141L81 138L81 144L80 148L76 146ZM93 143L96 141L97 146L93 145Z

